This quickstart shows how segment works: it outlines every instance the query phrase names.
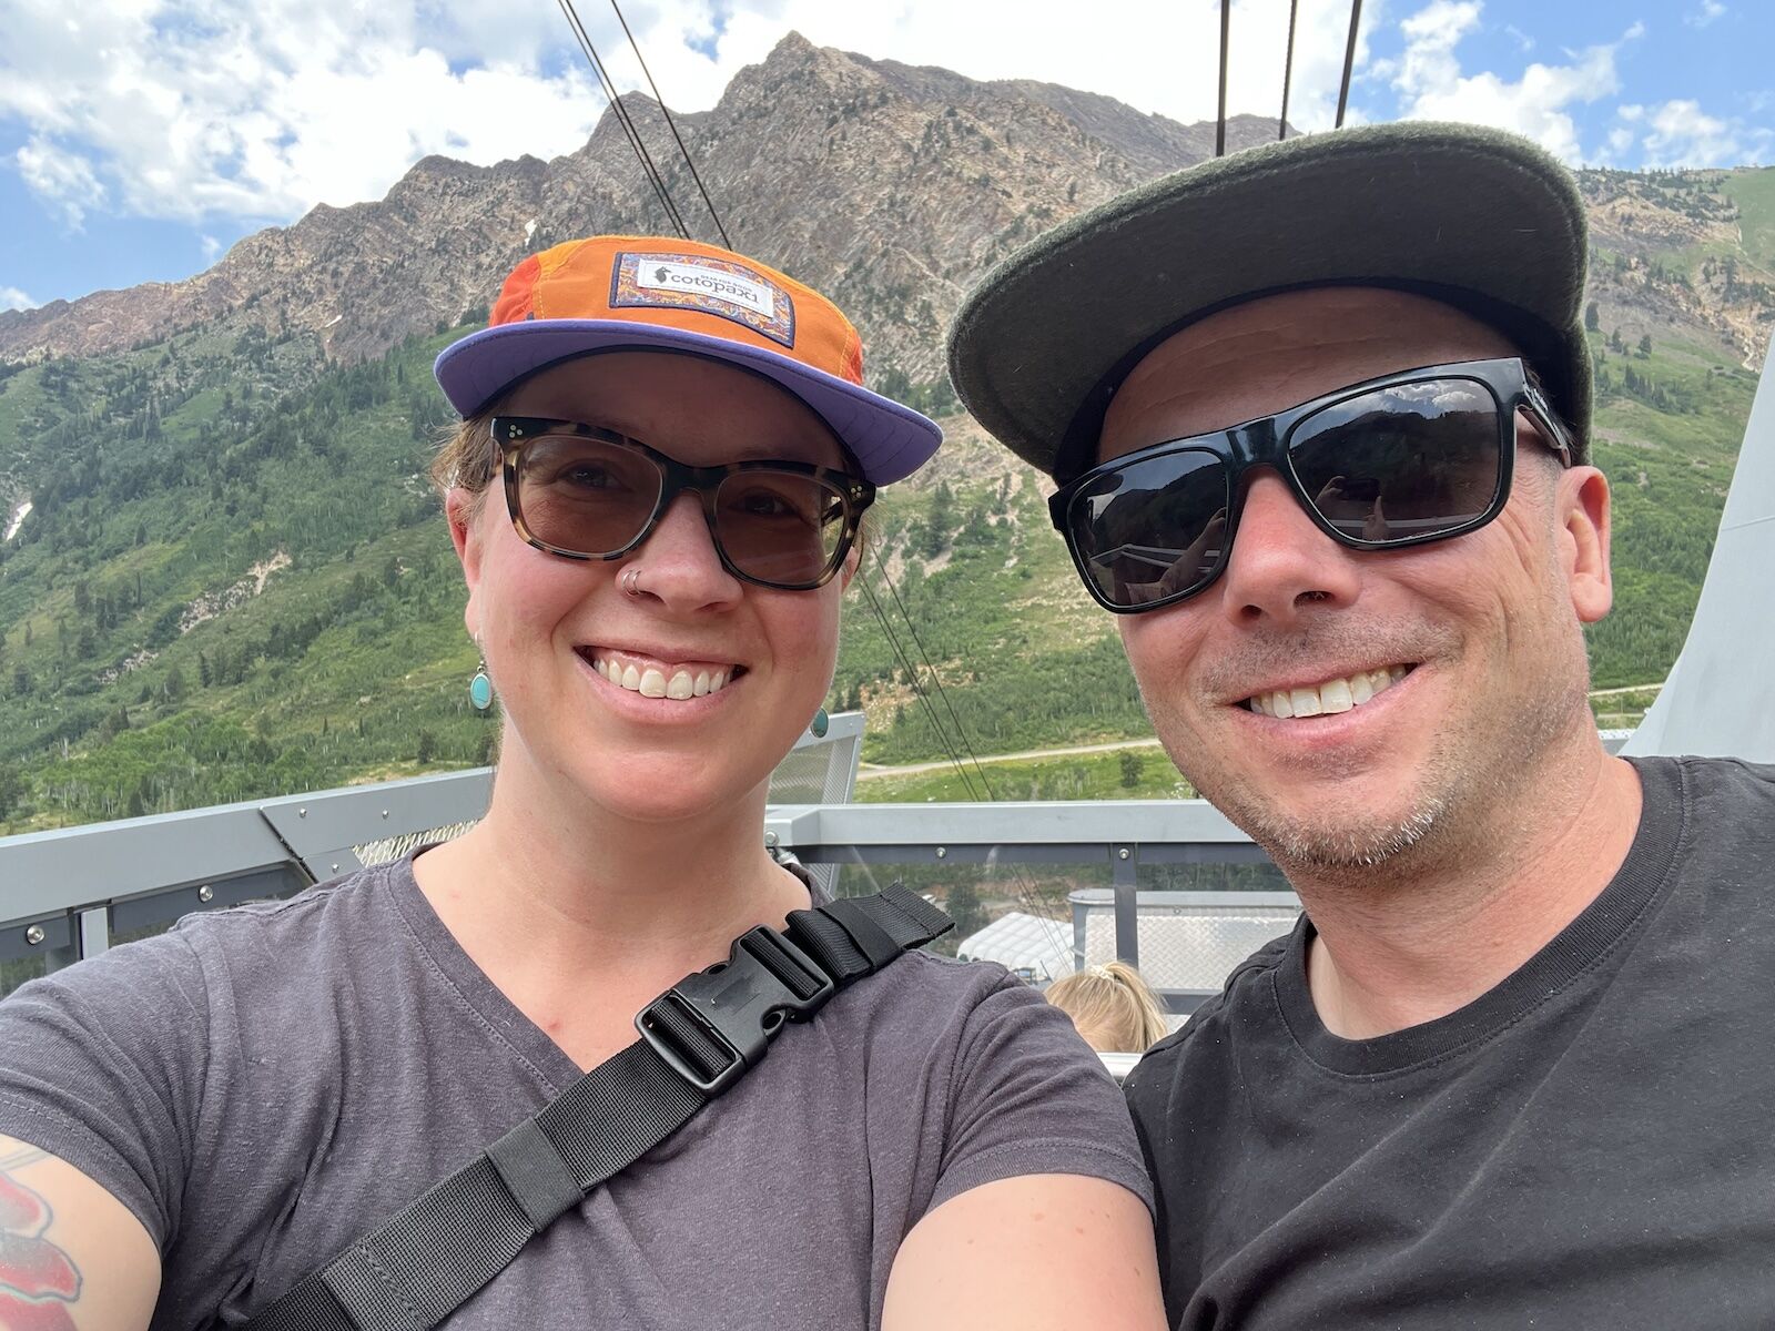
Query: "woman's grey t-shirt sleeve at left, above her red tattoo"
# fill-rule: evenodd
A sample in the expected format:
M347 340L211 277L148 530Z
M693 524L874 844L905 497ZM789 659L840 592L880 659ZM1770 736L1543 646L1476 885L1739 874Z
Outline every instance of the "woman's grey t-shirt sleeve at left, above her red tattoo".
M209 1058L204 976L179 935L114 948L0 1001L0 1132L178 1232Z

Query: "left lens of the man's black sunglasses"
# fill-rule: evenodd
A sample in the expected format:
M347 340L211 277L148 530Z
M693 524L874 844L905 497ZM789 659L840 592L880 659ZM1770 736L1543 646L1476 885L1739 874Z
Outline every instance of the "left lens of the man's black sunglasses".
M1200 589L1225 557L1227 467L1179 449L1116 467L1072 495L1067 541L1104 602L1150 605Z

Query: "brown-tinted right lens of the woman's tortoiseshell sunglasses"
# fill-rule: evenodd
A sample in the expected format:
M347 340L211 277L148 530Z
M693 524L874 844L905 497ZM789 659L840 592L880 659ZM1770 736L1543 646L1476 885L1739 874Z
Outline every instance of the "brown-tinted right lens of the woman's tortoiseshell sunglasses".
M832 483L767 467L733 472L715 490L715 536L731 564L772 587L816 587L850 532Z

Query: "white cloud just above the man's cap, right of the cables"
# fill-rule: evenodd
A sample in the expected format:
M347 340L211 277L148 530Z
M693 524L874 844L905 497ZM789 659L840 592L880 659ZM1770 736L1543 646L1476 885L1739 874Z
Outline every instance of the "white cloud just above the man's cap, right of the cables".
M1493 71L1468 75L1456 48L1479 32L1482 0L1432 0L1399 27L1406 51L1392 75L1400 119L1468 121L1514 130L1566 161L1582 160L1578 126L1567 110L1621 89L1615 53L1644 34L1635 23L1619 41L1567 51L1567 64L1534 62L1511 82Z

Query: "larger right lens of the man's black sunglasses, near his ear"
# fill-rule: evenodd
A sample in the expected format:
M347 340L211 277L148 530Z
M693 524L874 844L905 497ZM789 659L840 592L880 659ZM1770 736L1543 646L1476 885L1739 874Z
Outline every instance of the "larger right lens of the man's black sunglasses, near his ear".
M1289 465L1301 492L1356 541L1411 541L1479 522L1503 472L1503 413L1477 380L1422 380L1301 421Z

